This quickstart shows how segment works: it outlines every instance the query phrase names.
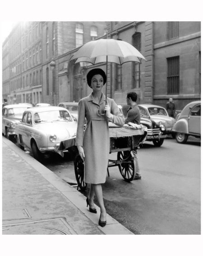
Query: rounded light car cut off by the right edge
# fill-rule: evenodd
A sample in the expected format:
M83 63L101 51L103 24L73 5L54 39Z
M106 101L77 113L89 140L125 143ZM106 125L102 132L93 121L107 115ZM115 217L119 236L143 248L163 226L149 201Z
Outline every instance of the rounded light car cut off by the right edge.
M172 132L178 143L185 143L189 135L201 137L201 101L190 102L184 107L176 116Z

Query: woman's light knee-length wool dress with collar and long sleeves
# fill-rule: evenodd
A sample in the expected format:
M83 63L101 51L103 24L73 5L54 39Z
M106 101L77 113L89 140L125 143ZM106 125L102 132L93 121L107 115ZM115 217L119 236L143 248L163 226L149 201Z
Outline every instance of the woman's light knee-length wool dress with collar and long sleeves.
M117 126L124 126L125 119L115 101L107 98L107 102L113 114L113 123ZM101 184L106 181L110 147L108 118L98 113L99 109L104 112L104 107L105 95L103 93L99 104L94 101L92 93L78 103L76 146L83 146L84 182L90 184ZM85 117L87 126L83 133Z

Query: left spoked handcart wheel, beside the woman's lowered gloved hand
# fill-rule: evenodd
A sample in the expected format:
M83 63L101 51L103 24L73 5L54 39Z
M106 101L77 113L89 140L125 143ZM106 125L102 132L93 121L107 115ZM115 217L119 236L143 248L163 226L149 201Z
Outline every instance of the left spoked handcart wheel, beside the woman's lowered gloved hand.
M82 191L85 191L88 184L84 182L84 163L79 154L74 158L74 168L78 186Z

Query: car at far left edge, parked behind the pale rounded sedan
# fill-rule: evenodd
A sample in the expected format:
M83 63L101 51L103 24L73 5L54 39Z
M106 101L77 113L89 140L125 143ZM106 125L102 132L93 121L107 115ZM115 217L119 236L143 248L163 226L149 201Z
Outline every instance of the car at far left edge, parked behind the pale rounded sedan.
M5 105L2 109L2 134L8 139L15 136L15 128L22 119L23 112L30 107L29 104Z

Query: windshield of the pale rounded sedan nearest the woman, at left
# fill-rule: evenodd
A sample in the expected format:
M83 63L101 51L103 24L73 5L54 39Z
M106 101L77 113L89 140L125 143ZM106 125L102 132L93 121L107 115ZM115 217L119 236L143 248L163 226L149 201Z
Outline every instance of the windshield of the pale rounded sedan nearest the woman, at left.
M52 121L73 121L71 116L67 111L53 110L53 111L44 111L37 112L34 114L34 122L52 122Z

